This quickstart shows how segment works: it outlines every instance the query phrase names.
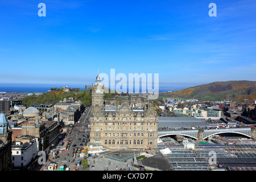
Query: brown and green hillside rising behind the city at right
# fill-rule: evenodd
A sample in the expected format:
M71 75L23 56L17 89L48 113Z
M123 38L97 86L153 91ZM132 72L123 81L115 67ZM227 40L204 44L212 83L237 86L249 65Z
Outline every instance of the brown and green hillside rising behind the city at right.
M160 96L196 98L198 100L224 101L233 100L248 102L256 99L256 81L224 81L193 86L171 93L161 93Z

